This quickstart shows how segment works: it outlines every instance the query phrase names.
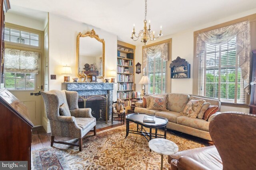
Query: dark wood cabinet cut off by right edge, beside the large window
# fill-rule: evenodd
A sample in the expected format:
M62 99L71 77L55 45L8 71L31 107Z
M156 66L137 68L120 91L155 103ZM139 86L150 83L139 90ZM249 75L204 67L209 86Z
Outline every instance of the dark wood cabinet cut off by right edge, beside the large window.
M256 80L256 49L252 50L252 82ZM251 87L251 99L250 99L250 113L256 114L256 84Z

